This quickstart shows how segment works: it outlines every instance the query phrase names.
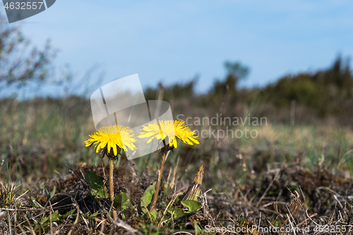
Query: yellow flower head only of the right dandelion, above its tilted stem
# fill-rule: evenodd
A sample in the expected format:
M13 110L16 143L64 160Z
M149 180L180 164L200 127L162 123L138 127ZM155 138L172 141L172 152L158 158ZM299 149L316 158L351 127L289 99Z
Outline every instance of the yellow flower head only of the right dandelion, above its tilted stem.
M184 121L158 121L157 123L149 123L148 126L143 126L140 129L138 138L150 138L147 143L150 143L153 138L164 140L168 137L169 146L177 147L177 138L188 145L199 144L196 131L191 131Z

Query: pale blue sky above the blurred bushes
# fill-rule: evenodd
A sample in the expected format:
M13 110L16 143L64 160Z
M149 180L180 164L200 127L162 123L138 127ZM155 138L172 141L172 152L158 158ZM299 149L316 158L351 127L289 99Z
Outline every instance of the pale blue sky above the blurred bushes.
M353 55L348 0L57 0L13 24L38 46L51 39L60 49L55 66L70 64L77 78L99 65L103 84L138 73L143 88L198 74L205 92L225 76L226 60L251 68L242 85L261 86Z

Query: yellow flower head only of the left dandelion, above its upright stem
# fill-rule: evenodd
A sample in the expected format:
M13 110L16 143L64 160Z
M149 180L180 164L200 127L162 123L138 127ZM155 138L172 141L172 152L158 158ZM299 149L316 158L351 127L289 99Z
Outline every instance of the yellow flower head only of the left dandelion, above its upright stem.
M136 145L133 144L136 140L133 135L133 131L127 126L103 126L98 128L96 133L90 135L90 138L85 141L85 146L95 145L96 152L107 147L108 153L113 148L116 156L119 148L124 151L127 151L127 147L131 150L136 150Z

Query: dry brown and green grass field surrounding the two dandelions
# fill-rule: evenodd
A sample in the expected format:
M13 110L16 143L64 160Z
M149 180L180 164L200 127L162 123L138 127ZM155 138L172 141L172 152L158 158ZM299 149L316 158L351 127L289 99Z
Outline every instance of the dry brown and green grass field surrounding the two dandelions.
M195 115L187 109L173 112L174 118L181 112ZM156 180L160 155L155 152L133 162L122 158L114 170L114 193L128 193L134 209L121 209L118 222L113 222L109 203L97 202L85 181L92 171L107 184L108 172L107 159L83 143L95 131L89 100L1 100L0 114L0 208L5 212L1 234L200 234L210 227L254 224L332 234L313 231L326 224L345 234L343 228L352 227L353 131L344 126L268 121L229 127L234 132L256 130L256 138L208 135L200 138L200 145L179 145L164 165L155 220L143 215L139 205ZM191 128L207 132L225 126ZM205 197L209 210L204 205L193 215L167 219L170 202L186 191L202 165L202 190L212 188Z

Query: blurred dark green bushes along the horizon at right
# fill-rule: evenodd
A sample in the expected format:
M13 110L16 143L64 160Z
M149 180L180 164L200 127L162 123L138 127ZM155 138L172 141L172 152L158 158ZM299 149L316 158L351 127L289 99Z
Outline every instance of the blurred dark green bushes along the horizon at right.
M239 88L239 81L250 71L239 61L227 61L225 68L227 76L216 79L205 94L195 92L198 78L194 78L189 83L168 87L160 83L158 88L147 88L146 99L155 100L162 89L164 100L181 104L179 109L184 106L180 100L189 100L188 104L193 108L212 110L210 113L225 106L222 109L224 116L246 116L247 108L251 106L251 116L265 116L270 123L283 124L290 122L290 109L294 109L297 124L334 123L352 128L353 75L349 58L337 56L328 68L288 74L261 88Z

